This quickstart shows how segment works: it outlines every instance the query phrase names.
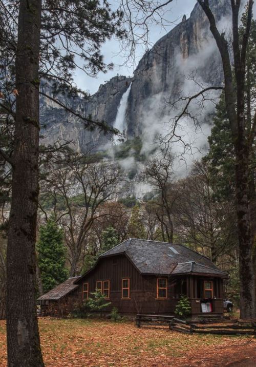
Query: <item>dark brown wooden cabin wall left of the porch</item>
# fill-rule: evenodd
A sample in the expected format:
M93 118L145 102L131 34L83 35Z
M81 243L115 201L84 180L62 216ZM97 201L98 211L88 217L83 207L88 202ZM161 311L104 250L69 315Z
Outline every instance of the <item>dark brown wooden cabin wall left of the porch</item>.
M121 298L122 279L130 279L130 299ZM111 305L106 311L117 307L122 314L173 313L177 303L174 287L168 282L168 298L157 299L157 276L141 275L124 255L102 259L95 270L79 283L79 297L82 299L82 284L89 283L89 293L95 291L96 282L110 280Z

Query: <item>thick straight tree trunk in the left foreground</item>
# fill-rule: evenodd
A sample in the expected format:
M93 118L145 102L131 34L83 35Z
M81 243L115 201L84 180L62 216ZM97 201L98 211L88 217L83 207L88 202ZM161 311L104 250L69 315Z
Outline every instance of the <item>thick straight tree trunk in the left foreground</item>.
M20 0L16 51L16 116L7 245L9 367L43 367L36 315L40 0Z

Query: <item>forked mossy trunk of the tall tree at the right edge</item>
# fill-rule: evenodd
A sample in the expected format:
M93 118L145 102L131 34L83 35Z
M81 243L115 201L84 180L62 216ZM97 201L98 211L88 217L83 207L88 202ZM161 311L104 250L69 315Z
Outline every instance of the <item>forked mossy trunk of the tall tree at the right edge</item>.
M232 76L231 62L228 52L228 43L225 34L219 33L215 17L209 6L209 0L197 0L208 17L210 31L215 38L221 54L225 83L225 102L232 131L233 145L236 153L236 199L239 237L239 272L240 272L240 317L242 319L255 316L254 272L252 262L252 229L249 208L249 169L248 162L252 139L248 137L245 121L245 61L248 37L252 19L253 0L248 0L247 24L243 34L242 47L239 45L239 10L241 2L231 0L232 8L232 36L234 72L236 75L236 89ZM237 106L236 106L237 103Z

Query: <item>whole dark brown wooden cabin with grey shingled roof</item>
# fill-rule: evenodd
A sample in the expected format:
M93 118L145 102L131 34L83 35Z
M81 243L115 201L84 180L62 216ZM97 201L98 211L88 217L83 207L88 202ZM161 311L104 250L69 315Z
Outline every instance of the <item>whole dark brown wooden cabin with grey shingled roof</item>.
M226 278L208 258L182 244L130 238L100 255L89 272L68 279L38 301L57 308L63 300L85 301L97 288L111 302L106 312L117 307L120 314L169 315L181 295L186 295L192 315L220 315Z

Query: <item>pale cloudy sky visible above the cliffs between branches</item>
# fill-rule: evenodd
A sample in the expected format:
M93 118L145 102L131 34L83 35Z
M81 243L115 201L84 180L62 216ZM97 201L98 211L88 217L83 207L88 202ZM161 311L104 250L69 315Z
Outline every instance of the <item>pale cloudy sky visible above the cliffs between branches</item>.
M228 1L228 0L226 0ZM245 2L246 0L244 0ZM113 8L116 7L116 4L118 4L118 0L112 0L110 1L111 5L113 5ZM185 14L188 18L190 16L191 11L193 10L194 6L196 4L196 0L174 0L172 4L169 4L168 8L168 15L167 18L170 22L174 22L172 24L169 24L168 26L163 29L160 25L152 25L150 26L150 48L166 33L168 33L173 27L175 27L177 24L181 22L182 16ZM254 18L256 15L256 1L253 5L253 12L254 12ZM100 84L104 84L106 81L109 81L113 76L119 74L119 75L127 75L132 76L133 71L137 66L138 61L141 59L145 52L144 47L138 47L136 50L136 63L126 63L124 64L124 57L121 55L118 55L119 50L119 42L115 40L111 40L106 42L101 47L101 52L104 56L104 62L106 64L114 63L114 69L108 71L107 73L100 72L98 73L96 78L92 78L83 71L77 70L75 75L75 82L77 83L77 86L81 88L82 90L86 90L90 92L91 94L95 93Z

